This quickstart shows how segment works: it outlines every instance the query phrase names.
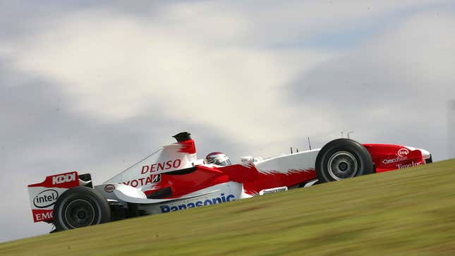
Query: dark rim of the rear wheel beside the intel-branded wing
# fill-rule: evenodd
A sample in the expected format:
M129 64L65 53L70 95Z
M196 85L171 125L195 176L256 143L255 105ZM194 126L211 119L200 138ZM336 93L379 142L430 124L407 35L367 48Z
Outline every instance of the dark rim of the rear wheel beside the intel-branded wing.
M66 205L64 216L71 228L90 226L95 222L95 209L89 201L77 199Z

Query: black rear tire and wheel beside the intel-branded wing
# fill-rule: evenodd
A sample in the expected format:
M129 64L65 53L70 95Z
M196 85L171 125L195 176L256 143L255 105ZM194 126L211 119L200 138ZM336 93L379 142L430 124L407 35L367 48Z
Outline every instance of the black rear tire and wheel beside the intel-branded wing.
M56 231L92 226L111 221L107 200L96 190L75 187L66 190L54 206Z

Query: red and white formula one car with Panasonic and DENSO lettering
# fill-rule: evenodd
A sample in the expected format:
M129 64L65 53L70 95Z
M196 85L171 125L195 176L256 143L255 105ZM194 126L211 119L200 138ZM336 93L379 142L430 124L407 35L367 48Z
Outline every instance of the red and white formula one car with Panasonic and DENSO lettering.
M33 220L56 231L146 214L176 212L242 198L427 164L426 150L340 138L322 149L219 166L197 159L190 133L109 179L92 185L76 171L28 185Z

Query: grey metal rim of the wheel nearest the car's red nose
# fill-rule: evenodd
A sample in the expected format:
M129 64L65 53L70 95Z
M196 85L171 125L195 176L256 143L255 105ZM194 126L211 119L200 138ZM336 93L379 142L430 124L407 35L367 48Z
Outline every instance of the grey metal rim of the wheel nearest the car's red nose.
M329 175L336 181L356 176L358 166L356 157L346 151L336 152L327 162Z

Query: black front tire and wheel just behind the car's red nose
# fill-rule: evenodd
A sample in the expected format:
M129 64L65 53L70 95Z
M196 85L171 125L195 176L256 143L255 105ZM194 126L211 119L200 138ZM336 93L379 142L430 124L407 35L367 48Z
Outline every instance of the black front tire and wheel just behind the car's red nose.
M332 140L317 154L316 174L320 183L341 181L374 172L370 153L355 140Z

